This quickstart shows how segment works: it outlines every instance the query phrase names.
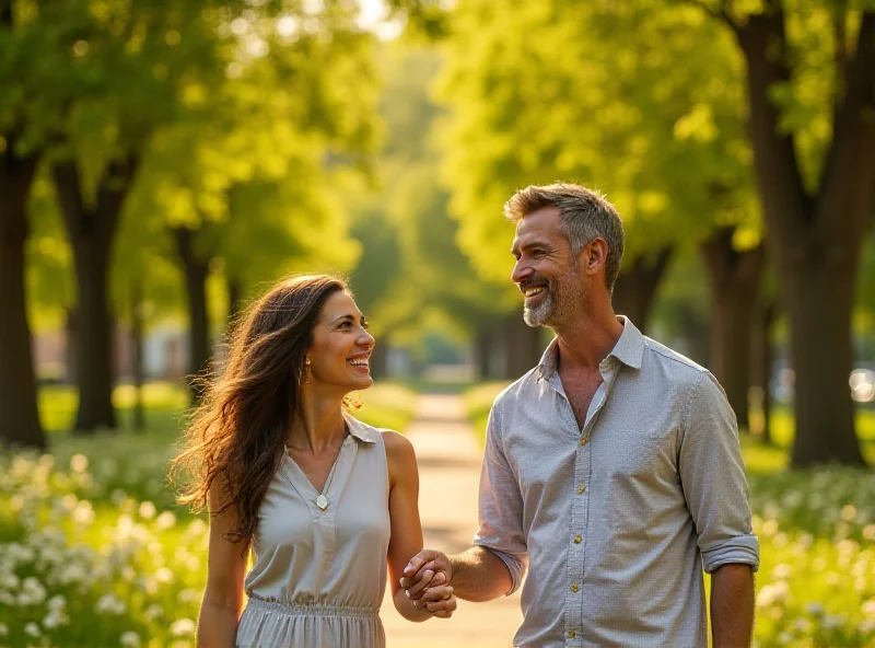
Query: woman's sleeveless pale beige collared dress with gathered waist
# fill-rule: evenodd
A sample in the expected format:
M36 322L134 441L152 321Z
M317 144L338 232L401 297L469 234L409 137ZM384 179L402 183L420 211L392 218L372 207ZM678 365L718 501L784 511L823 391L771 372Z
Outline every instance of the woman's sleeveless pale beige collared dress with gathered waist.
M378 610L389 544L388 467L380 430L346 416L325 493L287 456L258 511L238 648L383 648Z

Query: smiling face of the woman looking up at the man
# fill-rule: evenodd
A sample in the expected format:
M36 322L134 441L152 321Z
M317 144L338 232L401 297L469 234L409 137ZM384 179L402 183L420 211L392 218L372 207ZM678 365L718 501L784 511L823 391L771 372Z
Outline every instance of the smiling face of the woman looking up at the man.
M343 394L373 384L369 358L374 338L355 301L346 291L334 292L323 305L313 328L310 384L337 387Z

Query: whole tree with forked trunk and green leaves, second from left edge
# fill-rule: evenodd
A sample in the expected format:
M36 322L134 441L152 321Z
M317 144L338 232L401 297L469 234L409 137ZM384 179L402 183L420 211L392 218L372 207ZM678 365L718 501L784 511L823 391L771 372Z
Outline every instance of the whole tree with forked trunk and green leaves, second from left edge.
M55 18L78 34L67 65L84 80L81 88L68 82L51 160L77 278L74 428L91 432L116 425L107 293L124 207L154 130L197 108L221 77L210 18L233 14L232 4L208 0L59 4L63 13ZM47 31L52 16L40 10L36 18Z

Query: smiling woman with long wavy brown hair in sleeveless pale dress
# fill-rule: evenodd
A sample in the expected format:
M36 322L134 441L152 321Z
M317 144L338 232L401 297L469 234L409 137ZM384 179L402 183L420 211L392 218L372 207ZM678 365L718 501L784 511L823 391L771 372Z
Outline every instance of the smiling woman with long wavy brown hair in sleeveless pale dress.
M349 414L373 383L366 328L346 285L314 276L272 288L234 333L174 462L197 475L180 501L211 516L199 647L380 648L387 563L406 618L455 610L443 581L425 609L398 585L422 548L419 476L407 439Z

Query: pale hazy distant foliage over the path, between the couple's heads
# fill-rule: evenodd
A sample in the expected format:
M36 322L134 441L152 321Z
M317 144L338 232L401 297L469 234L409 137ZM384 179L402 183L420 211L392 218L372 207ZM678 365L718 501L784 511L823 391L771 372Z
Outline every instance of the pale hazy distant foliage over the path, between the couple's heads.
M390 333L396 345L412 344L427 328L465 336L503 304L491 299L459 252L458 225L448 218L448 195L439 184L434 139L442 111L427 89L441 58L404 43L384 44L378 57L386 139L375 166L377 186L345 193L364 248L353 287L377 334Z

